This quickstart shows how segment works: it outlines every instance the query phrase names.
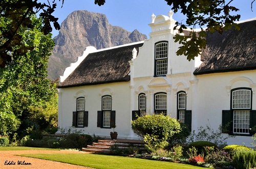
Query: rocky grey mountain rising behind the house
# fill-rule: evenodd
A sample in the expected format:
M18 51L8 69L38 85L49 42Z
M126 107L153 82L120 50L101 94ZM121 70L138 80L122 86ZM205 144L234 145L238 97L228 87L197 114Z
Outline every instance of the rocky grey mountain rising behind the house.
M144 34L132 33L113 26L104 14L89 11L72 12L60 26L54 38L55 46L48 63L48 77L56 79L70 63L76 62L87 46L97 49L145 40Z

